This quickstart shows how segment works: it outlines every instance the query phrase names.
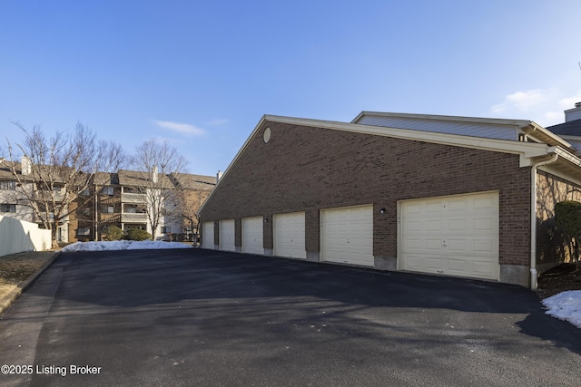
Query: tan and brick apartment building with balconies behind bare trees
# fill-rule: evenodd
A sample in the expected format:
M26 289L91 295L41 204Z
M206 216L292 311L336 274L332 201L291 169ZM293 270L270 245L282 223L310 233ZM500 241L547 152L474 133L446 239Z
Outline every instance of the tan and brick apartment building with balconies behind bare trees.
M23 162L24 161L24 162ZM26 160L15 162L18 174L28 172ZM10 170L12 161L0 159L0 214L42 225L43 219L34 215L31 203L23 189L34 195L45 195L41 184L34 181L19 186ZM24 168L23 168L24 165ZM29 173L29 172L28 172ZM99 178L106 181L101 189L91 186L75 198L67 208L69 215L62 219L56 230L58 242L105 240L109 227L115 226L124 232L130 228L143 228L150 234L152 229L147 218L148 193L151 189L144 179L152 179L152 174L121 169L115 173L101 173ZM187 173L166 176L159 174L162 188L177 192L180 200L163 200L162 216L156 229L156 239L192 240L197 234L197 219L191 217L216 185L216 177ZM58 182L54 184L55 198L63 195ZM173 195L172 195L173 196ZM50 215L49 215L50 216Z

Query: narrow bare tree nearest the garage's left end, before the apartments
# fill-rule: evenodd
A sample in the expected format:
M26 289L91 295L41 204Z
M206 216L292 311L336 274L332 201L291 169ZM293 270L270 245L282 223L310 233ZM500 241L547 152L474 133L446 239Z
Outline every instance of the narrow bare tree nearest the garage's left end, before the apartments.
M141 175L136 189L146 198L145 213L155 240L162 217L167 214L165 204L175 200L176 188L168 175L181 173L187 160L167 140L152 139L137 147L132 163Z

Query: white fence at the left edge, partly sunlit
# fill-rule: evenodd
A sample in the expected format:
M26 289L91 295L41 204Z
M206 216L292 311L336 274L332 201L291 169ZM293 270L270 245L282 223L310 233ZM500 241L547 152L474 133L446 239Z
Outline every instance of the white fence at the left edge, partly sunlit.
M0 216L0 256L51 247L51 231L24 220Z

